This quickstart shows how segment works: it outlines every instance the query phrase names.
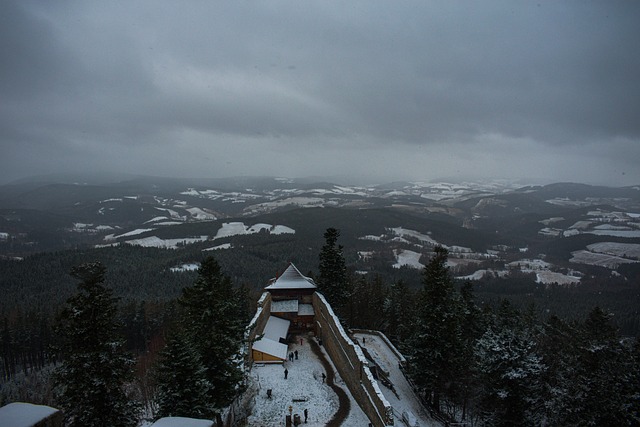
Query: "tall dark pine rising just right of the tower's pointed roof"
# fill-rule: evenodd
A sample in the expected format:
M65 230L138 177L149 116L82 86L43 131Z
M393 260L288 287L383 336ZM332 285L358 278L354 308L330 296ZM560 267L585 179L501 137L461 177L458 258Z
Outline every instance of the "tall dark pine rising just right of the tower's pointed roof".
M328 228L324 233L325 244L320 251L318 290L324 295L335 312L344 317L350 297L347 267L342 245L338 245L340 231Z

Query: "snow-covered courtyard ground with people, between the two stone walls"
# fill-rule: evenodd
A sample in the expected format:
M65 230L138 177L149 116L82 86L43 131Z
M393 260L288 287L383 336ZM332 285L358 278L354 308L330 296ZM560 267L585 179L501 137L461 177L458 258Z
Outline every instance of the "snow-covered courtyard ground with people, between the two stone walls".
M323 347L321 347L323 349ZM280 364L254 364L250 372L252 385L257 388L254 398L254 408L248 419L249 427L284 426L285 416L289 413L289 406L293 414L299 414L304 421L304 410L307 409L309 418L305 426L320 427L333 417L338 410L338 396L322 382L324 368L307 342L300 338L289 344L289 352L298 351L298 359L293 362ZM325 357L326 354L325 354ZM333 365L332 365L333 366ZM287 379L284 370L288 370ZM355 399L349 393L346 385L336 372L335 383L350 397L351 409L344 421L344 426L367 426L369 420L362 412ZM271 389L271 398L267 397L267 390ZM295 401L294 401L295 400Z

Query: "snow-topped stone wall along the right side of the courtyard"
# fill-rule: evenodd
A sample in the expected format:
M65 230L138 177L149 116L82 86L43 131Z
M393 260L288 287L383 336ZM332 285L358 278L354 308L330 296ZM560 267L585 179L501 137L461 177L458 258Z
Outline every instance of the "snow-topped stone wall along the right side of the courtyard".
M393 408L369 370L360 347L347 336L324 296L313 294L318 337L349 391L376 427L393 425Z

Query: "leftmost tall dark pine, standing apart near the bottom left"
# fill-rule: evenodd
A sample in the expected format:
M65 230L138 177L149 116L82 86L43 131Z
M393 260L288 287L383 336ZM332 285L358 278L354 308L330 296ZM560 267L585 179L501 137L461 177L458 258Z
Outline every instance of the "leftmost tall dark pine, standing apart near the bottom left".
M135 426L137 407L125 385L133 358L124 351L116 301L103 285L105 268L87 263L71 270L80 280L57 319L62 365L54 383L69 426Z

